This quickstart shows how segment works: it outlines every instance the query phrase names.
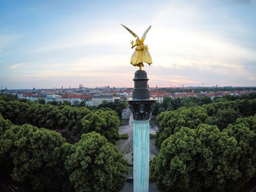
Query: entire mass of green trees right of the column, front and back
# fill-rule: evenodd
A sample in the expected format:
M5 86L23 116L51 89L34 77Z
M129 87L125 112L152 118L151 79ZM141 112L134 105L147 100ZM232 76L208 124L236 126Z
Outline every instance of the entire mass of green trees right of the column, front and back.
M255 114L256 99L160 113L151 180L161 191L237 191L256 177Z

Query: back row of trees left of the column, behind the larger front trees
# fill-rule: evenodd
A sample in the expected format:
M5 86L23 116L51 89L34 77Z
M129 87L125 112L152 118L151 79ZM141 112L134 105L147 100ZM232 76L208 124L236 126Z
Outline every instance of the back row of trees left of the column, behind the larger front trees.
M80 135L89 133L89 131L99 131L110 142L115 143L118 140L118 116L116 112L106 110L90 111L86 107L70 107L68 105L54 106L53 104L38 104L34 101L4 101L0 100L0 114L4 118L9 119L12 123L23 125L30 123L33 126L53 129L63 133L68 142L77 142ZM89 115L91 114L91 115ZM85 117L90 118L94 116L94 122L103 123L100 128L88 128L82 125L82 121L86 120ZM83 120L82 120L83 119ZM91 119L92 120L92 119Z

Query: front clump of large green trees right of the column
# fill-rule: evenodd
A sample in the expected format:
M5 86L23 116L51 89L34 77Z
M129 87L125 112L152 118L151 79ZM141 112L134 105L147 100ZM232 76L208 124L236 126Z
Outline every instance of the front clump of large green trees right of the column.
M255 175L255 127L256 116L223 131L206 124L181 128L151 162L151 180L161 191L236 190Z

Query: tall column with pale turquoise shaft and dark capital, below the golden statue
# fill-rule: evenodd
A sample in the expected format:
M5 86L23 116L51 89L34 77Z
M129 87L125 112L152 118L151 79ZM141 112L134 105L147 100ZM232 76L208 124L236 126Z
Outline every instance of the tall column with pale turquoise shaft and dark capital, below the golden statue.
M145 71L135 72L135 89L129 108L133 114L133 191L147 192L149 179L149 118L154 100L150 99Z

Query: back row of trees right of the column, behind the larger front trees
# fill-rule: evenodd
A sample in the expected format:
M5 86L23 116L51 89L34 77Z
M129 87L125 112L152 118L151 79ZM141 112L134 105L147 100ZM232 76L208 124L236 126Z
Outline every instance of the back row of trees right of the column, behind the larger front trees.
M167 137L175 134L182 126L196 128L200 123L207 123L217 125L222 130L237 118L255 113L256 99L214 102L201 107L181 107L178 110L162 112L157 117L159 131L155 144L160 147Z

